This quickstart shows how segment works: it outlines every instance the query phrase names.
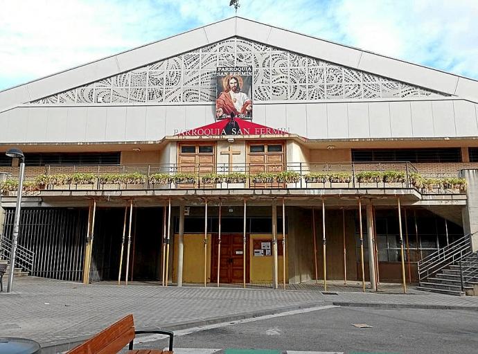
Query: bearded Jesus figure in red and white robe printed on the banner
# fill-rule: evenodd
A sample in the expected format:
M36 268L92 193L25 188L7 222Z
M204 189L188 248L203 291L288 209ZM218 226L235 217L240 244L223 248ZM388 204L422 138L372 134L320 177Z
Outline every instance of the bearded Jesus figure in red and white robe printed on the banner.
M239 79L231 76L227 87L215 101L216 118L227 118L233 113L238 118L245 118L252 113L252 100L240 91Z

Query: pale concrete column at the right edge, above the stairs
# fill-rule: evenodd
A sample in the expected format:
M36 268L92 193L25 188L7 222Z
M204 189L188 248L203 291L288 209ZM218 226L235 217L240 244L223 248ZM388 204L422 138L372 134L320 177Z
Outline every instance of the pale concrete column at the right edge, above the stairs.
M461 170L460 176L466 179L466 207L461 212L463 231L471 236L472 251L478 251L478 170Z

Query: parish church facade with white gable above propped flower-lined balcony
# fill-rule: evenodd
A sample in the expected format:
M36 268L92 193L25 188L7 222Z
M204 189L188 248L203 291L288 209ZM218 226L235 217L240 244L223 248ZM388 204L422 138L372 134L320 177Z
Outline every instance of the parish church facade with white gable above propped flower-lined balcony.
M478 249L477 102L475 80L226 19L0 92L3 245L15 146L33 275L413 282Z

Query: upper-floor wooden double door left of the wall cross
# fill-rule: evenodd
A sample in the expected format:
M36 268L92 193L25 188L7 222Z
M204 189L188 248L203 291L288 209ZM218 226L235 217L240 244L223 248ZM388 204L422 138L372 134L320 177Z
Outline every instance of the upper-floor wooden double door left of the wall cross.
M177 151L178 173L193 174L196 177L215 173L215 143L178 143ZM197 182L181 183L178 187L195 188Z

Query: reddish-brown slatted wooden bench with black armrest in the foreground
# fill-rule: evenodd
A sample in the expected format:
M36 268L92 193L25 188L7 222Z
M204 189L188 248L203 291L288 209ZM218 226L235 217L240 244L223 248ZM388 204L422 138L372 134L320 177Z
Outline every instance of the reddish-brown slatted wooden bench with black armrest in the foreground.
M169 351L157 349L133 349L135 335L155 333L169 336ZM173 334L169 330L134 330L133 315L127 315L115 324L94 335L85 343L71 349L67 354L114 354L118 353L127 344L130 354L172 354Z

